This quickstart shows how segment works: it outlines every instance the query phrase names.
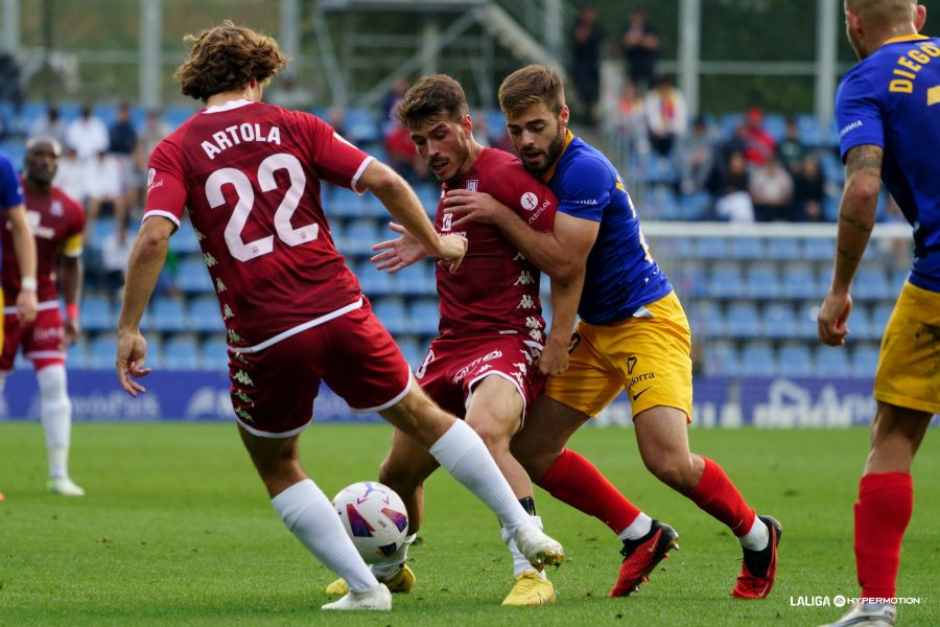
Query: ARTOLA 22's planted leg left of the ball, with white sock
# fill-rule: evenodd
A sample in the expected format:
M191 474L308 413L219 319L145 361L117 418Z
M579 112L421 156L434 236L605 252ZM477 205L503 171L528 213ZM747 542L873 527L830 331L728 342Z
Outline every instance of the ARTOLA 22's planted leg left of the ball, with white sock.
M349 582L355 596L368 597L376 607L391 609L391 597L362 560L333 504L310 479L297 456L297 435L265 437L238 425L271 504L284 525L318 560Z

